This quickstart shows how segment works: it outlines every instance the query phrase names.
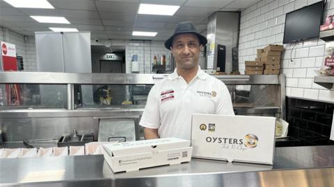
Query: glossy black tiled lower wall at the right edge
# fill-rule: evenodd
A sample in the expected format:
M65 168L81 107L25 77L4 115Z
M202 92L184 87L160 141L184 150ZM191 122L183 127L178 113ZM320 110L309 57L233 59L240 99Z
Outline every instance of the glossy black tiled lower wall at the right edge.
M301 145L334 145L329 140L333 109L333 103L287 98L288 136L301 140Z

